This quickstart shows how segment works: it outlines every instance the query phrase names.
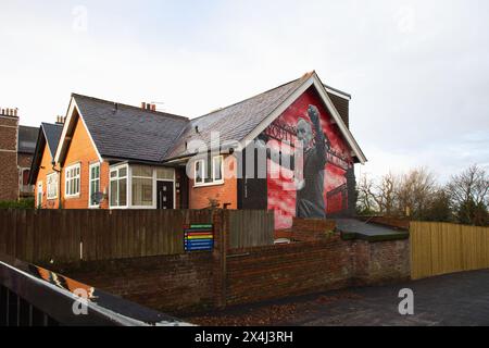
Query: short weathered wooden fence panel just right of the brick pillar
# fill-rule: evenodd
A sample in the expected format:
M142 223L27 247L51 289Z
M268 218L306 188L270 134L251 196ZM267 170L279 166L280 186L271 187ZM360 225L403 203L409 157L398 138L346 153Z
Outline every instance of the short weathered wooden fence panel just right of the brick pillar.
M233 249L274 244L274 213L264 210L231 210L229 246Z

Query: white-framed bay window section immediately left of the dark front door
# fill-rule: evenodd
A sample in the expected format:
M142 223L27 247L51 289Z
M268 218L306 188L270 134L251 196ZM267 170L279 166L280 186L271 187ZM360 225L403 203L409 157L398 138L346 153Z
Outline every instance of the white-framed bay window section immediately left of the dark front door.
M131 188L134 207L153 206L153 170L148 166L131 166Z

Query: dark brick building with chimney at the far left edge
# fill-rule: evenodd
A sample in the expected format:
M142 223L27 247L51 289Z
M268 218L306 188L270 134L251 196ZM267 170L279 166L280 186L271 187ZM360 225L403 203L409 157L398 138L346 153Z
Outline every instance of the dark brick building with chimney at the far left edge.
M39 128L18 124L17 109L0 111L0 201L34 196L29 172Z

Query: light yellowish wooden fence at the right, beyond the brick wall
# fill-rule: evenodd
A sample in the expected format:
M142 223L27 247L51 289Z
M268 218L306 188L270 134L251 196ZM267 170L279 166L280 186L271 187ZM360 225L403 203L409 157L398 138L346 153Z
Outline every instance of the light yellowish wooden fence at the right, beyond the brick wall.
M489 268L489 228L411 222L411 277Z

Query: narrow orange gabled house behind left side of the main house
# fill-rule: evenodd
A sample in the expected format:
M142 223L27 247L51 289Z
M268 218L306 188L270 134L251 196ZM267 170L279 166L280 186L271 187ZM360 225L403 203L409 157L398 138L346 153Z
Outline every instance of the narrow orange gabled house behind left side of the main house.
M63 119L58 117L55 124L41 123L38 132L29 182L36 185L36 207L55 209L60 207L60 174L53 160L63 132Z

